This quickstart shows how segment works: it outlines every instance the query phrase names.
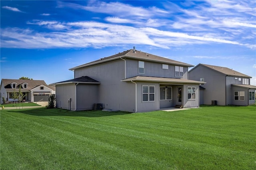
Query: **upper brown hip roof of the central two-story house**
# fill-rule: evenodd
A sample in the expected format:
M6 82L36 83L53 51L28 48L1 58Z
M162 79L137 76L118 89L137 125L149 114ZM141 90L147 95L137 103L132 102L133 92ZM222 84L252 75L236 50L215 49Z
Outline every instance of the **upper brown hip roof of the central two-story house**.
M172 59L168 59L168 58L165 58L165 57L160 57L160 56L157 56L157 55L153 55L153 54L150 54L150 53L145 53L145 52L137 51L137 50L135 50L135 52L134 52L134 49L129 49L127 51L123 51L121 53L111 55L109 57L104 57L104 58L98 59L96 61L92 61L90 63L86 63L86 64L83 64L83 65L79 65L77 67L73 67L70 70L75 70L75 69L79 69L79 68L82 68L82 67L87 67L89 65L94 65L94 64L104 63L104 62L115 60L115 59L120 59L120 57L146 60L146 61L155 61L155 62L161 62L161 63L166 63L166 64L175 64L175 65L187 66L187 67L194 67L194 65L190 65L190 64L187 64L187 63L182 63L180 61L175 61L175 60L172 60Z

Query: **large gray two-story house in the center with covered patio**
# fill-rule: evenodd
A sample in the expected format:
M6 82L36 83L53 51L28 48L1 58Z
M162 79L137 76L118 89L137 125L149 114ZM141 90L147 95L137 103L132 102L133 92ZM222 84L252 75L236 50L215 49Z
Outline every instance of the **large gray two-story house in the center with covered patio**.
M130 49L71 68L74 79L52 84L56 107L80 111L101 105L129 112L198 108L202 82L188 80L188 67L193 65Z

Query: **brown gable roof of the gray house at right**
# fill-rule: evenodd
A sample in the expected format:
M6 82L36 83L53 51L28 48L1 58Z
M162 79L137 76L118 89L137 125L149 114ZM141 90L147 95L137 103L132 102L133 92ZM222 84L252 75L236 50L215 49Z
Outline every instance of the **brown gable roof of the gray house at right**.
M224 75L229 75L229 76L234 76L234 77L247 77L247 78L252 78L248 75L245 75L243 73L240 73L238 71L235 71L233 69L229 69L228 67L221 67L221 66L216 66L216 65L208 65L208 64L198 64L198 65L202 65L204 67L207 67L209 69L212 69L214 71L218 71L219 73L222 73ZM195 69L196 67L198 67L198 65L196 65L194 68L192 68L190 71L192 71L193 69ZM188 72L190 72L188 71Z

